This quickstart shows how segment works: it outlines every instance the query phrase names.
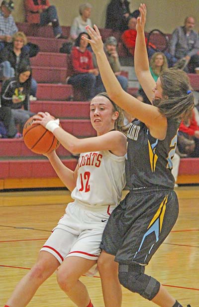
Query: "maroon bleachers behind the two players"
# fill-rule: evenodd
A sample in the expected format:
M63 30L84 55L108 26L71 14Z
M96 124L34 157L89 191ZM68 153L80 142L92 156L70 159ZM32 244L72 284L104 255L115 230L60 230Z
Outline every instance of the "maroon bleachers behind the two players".
M31 111L48 111L59 117L62 127L77 137L95 136L89 120L89 102L81 101L81 93L74 92L72 86L66 84L67 55L59 53L66 40L53 38L51 26L41 28L27 23L18 23L17 26L28 36L28 41L40 47L38 55L31 58L33 77L38 82L37 101L31 102ZM70 27L62 29L63 34L69 36ZM119 32L109 29L100 32L103 40L114 35L119 41ZM119 56L125 57L126 52L119 41ZM190 77L193 88L199 91L199 75L191 74ZM136 87L128 88L131 95L136 91ZM77 101L70 101L71 96ZM77 158L62 146L57 153L65 165L72 169L76 167ZM199 183L199 159L181 159L178 183ZM63 186L46 157L32 153L21 139L0 139L0 190Z

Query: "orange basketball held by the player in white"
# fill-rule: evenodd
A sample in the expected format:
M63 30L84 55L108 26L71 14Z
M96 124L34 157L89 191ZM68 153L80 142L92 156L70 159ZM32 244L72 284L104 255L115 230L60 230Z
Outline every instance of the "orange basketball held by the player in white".
M32 117L27 120L23 127L23 141L33 153L40 154L50 153L60 145L52 132L40 124L34 124Z

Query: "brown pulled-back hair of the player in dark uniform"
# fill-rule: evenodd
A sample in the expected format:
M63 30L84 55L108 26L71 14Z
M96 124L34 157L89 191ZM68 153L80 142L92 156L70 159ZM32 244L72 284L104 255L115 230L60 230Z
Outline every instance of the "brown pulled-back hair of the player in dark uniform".
M194 94L186 72L169 68L161 72L163 98L155 99L153 105L167 118L182 120L194 108Z

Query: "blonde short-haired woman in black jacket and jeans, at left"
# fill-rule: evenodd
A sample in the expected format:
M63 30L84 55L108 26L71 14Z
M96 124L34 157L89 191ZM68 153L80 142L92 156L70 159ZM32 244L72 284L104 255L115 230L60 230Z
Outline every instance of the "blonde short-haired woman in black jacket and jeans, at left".
M12 43L0 50L0 79L5 80L14 77L20 64L30 65L29 53L24 50L27 37L23 32L16 32L12 37ZM30 95L36 97L37 82L31 79Z

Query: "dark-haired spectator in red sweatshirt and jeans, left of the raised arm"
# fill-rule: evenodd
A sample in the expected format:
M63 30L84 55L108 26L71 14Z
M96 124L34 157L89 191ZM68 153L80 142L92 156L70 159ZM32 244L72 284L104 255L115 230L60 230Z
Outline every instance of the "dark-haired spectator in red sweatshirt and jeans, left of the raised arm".
M85 100L91 100L96 94L96 77L98 68L94 68L92 53L87 49L88 42L82 36L89 37L86 32L80 33L71 52L73 67L72 76L68 84L81 88L85 93Z

